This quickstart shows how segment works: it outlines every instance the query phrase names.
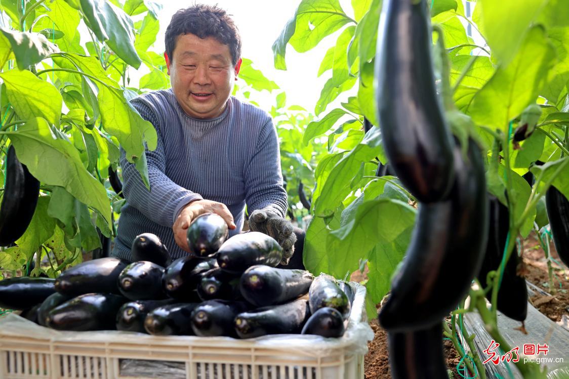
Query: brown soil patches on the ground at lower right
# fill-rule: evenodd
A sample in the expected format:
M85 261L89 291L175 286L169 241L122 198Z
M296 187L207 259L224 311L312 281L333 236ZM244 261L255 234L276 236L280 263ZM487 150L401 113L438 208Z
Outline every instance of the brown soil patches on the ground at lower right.
M550 249L551 257L555 261L560 262L553 242L551 242ZM569 316L569 269L563 263L559 265L555 262L552 263L555 287L555 294L553 294L549 286L545 253L539 245L535 234L530 234L524 241L522 256L526 269L526 280L551 294L551 296L542 294L532 296L530 302L534 304L535 308L555 322L559 322L563 316L564 319L567 319ZM364 278L365 273L364 275L360 273L352 275L352 280L361 281ZM391 378L391 373L389 353L387 352L387 332L381 328L377 319L372 320L369 324L375 336L368 343L369 352L364 360L365 379L389 379ZM460 378L461 376L456 369L460 362L459 354L451 341L445 340L443 345L447 369L452 371L454 378ZM472 377L472 374L469 374L469 376Z

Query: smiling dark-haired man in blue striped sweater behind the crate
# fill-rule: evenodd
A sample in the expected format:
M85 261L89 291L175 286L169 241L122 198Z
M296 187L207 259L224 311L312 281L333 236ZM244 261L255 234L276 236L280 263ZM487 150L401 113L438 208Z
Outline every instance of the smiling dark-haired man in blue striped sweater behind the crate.
M146 150L150 191L121 150L126 204L113 256L131 260L135 236L146 232L159 236L172 258L185 256L195 217L217 213L233 236L242 230L246 205L250 229L274 237L286 265L295 241L302 250L304 235L284 219L287 194L273 121L230 96L241 66L237 27L217 6L194 5L172 17L165 39L172 88L132 101L158 133L156 150ZM303 267L302 252L288 267Z

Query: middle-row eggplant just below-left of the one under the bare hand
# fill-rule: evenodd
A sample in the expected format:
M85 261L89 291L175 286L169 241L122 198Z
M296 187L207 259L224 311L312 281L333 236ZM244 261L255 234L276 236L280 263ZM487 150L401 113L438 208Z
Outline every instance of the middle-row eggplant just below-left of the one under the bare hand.
M203 274L216 266L215 259L203 260L192 256L178 258L166 267L162 287L171 298L187 302L199 301L196 287Z

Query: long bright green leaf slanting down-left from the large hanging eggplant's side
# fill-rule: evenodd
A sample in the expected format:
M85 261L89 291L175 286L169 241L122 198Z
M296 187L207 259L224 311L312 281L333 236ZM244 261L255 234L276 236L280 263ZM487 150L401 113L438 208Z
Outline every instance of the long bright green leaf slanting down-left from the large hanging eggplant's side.
M317 217L331 216L337 205L352 190L350 183L361 163L368 162L376 156L385 161L381 131L374 126L365 134L364 140L354 150L343 156L335 164L329 171L325 182L317 184L317 189L320 188L320 194L318 197L315 196L315 200L313 200L314 215Z

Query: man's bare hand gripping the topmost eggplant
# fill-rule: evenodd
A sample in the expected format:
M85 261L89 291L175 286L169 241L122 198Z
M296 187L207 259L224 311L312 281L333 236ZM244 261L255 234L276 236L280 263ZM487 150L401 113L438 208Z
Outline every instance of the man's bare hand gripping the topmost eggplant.
M212 200L192 201L182 208L182 212L180 212L180 215L176 219L174 225L172 225L174 240L185 252L189 253L187 238L189 224L192 223L193 219L203 213L217 213L225 220L229 229L233 230L236 228L233 223L233 215L229 212L229 209L227 209L225 204L217 203L217 201Z

